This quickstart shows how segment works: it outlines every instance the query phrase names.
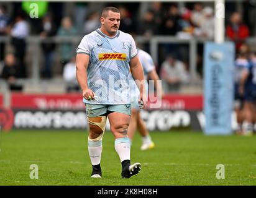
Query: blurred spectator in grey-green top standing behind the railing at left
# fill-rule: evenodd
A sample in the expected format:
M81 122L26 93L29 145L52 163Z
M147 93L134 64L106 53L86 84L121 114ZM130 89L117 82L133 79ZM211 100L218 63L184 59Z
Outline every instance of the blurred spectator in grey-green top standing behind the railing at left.
M76 35L76 29L72 25L72 21L70 17L64 17L62 19L62 26L58 29L58 36L73 36ZM74 51L74 47L71 42L62 42L60 44L60 59L62 61L62 68L65 66L65 64L70 61L72 58L72 54Z

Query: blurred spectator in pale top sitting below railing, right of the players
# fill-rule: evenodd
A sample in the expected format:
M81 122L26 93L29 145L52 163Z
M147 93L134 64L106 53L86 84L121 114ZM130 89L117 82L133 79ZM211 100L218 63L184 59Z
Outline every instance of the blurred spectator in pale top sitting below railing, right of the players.
M185 64L178 61L175 56L168 56L162 63L160 77L163 80L165 92L178 91L181 84L188 83L190 80Z

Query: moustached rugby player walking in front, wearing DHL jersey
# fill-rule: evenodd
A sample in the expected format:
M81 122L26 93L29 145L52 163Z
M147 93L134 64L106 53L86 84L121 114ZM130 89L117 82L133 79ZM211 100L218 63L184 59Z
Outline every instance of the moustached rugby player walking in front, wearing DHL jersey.
M101 13L101 27L85 35L76 49L76 77L83 91L89 125L88 151L93 172L101 178L102 139L106 118L115 138L115 149L122 164L122 178L139 173L140 163L130 165L129 70L134 79L144 81L144 72L131 35L118 30L120 13L106 7ZM144 83L140 87L140 102L146 106Z

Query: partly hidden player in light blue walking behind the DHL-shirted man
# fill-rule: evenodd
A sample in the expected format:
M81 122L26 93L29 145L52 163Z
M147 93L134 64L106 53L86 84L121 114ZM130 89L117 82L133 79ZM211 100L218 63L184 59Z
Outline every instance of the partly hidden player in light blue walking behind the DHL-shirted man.
M145 52L142 49L138 49L138 55L140 62L142 64L143 70L144 70L144 77L145 79L151 79L154 80L154 85L157 88L157 96L162 97L163 91L162 86L157 85L160 84L159 77L157 75L157 72L155 71L155 64L153 63L153 59L150 56L149 53ZM132 78L132 75L130 73L129 79L130 81L130 100L131 100L131 107L132 107L132 117L130 119L130 124L128 127L128 136L130 140L133 139L135 131L138 129L140 136L142 136L142 146L140 147L141 150L148 150L153 149L155 147L154 142L152 141L149 131L147 130L147 127L143 121L143 119L140 116L140 108L138 104L139 100L139 88L135 84L134 79ZM145 90L146 93L149 92L149 85L147 82L145 82ZM161 98L157 98L157 100L161 100Z

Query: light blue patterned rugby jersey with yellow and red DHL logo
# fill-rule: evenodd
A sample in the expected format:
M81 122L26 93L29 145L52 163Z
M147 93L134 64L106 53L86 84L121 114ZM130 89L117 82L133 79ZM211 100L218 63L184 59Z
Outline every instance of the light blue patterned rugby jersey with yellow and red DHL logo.
M84 103L130 103L129 62L137 55L135 41L131 35L117 30L116 36L108 37L97 29L83 37L76 53L89 55L88 86L98 97L98 101L83 99Z

